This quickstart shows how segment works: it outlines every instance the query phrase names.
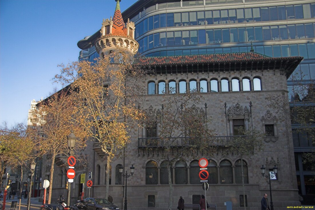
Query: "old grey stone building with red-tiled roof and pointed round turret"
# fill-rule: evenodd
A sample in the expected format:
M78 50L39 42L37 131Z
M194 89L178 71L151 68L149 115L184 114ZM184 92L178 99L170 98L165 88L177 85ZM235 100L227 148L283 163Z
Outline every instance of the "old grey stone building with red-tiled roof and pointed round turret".
M114 46L125 46L126 51L135 53L139 44L134 38L134 23L123 19L117 7L112 19L103 21L100 37L93 45L97 53L106 56ZM81 43L82 44L82 43ZM148 110L150 117L159 119L161 103L165 95L185 94L197 90L203 101L191 104L193 110L203 112L211 118L209 127L215 129L215 136L209 144L216 152L200 154L199 157L178 160L172 165L173 203L175 209L180 196L185 203L196 203L204 194L200 184L198 159L209 161L209 189L207 200L217 209L226 209L225 202L231 201L233 209L243 209L243 185L240 173L240 158L236 153L227 153L225 146L238 129L258 129L265 134L264 150L243 158L245 200L249 209L260 209L264 193L269 194L269 182L261 176L261 165L266 173L277 165L277 176L272 178L273 205L277 209L300 205L296 181L293 140L289 116L279 115L267 105L270 96L281 96L288 100L287 79L303 57L267 57L250 52L181 55L169 57L138 57L134 65L152 69L146 76L148 92L140 100L141 107ZM172 89L174 88L174 89ZM203 105L206 103L207 105ZM169 184L166 180L165 159L158 156L163 145L158 144L159 123L156 127L138 127L130 135L125 156L112 162L110 194L113 202L120 208L124 205L125 180L119 173L131 165L135 173L128 178L127 202L130 209L167 209ZM157 144L149 144L154 139ZM180 141L174 148L182 147ZM88 167L76 168L74 184L71 185L71 200L77 200L84 188L86 197L102 197L105 192L106 156L99 145L89 141L83 151L88 157ZM43 163L42 180L49 177L49 166ZM52 200L66 195L67 168L55 169ZM91 172L93 186L86 189L87 175ZM151 176L150 176L151 175ZM84 184L81 183L85 178ZM84 196L84 197L85 197Z

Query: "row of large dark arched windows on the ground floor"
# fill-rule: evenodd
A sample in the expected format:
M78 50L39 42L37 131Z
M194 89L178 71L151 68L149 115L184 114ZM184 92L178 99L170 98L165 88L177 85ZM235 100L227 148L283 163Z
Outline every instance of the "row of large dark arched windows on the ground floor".
M235 167L234 167L235 166ZM232 167L229 160L222 160L219 165L214 160L208 160L207 171L209 172L208 183L210 184L242 184L241 160L237 160ZM200 184L200 167L198 160L190 162L179 160L170 167L173 184ZM247 164L243 160L244 183L248 183ZM168 184L167 161L163 161L158 167L157 162L151 160L146 164L146 184Z

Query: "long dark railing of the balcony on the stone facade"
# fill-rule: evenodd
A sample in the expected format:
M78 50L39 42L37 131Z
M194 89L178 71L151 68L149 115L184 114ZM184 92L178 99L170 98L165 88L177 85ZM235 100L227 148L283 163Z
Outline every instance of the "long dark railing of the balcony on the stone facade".
M248 136L212 136L206 140L209 146L223 147L233 141L235 137ZM169 140L160 138L138 138L138 148L156 148L156 147L189 147L202 141L199 137L172 137Z

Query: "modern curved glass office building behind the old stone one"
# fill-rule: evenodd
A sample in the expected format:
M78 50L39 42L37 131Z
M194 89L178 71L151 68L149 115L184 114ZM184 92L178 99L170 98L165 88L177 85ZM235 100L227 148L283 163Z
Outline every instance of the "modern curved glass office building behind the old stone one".
M122 2L123 3L123 2ZM139 0L122 13L135 22L138 55L145 57L254 51L269 57L302 56L288 79L289 100L295 86L315 81L315 3L313 0ZM78 42L79 60L98 57L92 43L99 31ZM303 153L312 141L292 124L299 194L315 197L312 167Z

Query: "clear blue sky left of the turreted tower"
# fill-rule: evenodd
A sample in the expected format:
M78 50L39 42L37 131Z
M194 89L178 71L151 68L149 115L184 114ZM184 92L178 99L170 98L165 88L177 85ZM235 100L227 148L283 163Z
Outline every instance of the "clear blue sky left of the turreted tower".
M137 0L122 0L123 12ZM114 15L115 0L0 0L0 123L27 121L31 100L49 96L58 64Z

